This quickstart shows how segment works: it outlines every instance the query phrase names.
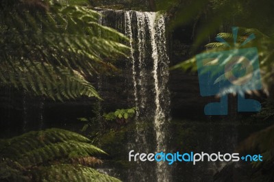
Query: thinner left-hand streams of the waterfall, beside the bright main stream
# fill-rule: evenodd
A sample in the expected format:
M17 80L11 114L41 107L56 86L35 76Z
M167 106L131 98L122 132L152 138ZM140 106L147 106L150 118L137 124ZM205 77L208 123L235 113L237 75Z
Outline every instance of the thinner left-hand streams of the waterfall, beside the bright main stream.
M138 148L138 151L144 153L149 153L149 148L147 147L147 138L145 135L145 130L142 129L142 122L144 118L141 118L143 110L146 108L146 92L145 92L145 70L143 69L144 62L142 62L143 57L145 56L145 19L141 13L136 12L137 17L137 28L138 28L138 42L134 44L133 37L133 26L132 26L132 12L125 12L125 34L129 38L129 46L132 48L130 51L130 57L132 61L132 82L134 86L134 104L138 108L136 111L136 134L134 136L134 144L128 145L128 151L131 151L132 148ZM138 56L135 56L134 47L138 50ZM142 85L143 84L143 85ZM149 175L147 175L147 170L153 170L147 168L140 161L136 161L136 172L130 174L129 180L138 180L138 181L149 181ZM132 173L132 172L131 172ZM132 179L130 179L132 178Z

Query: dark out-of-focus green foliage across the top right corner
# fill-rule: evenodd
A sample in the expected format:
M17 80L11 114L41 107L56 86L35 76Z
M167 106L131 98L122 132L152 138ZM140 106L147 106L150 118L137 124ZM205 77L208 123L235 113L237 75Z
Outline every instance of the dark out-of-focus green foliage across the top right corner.
M245 0L156 0L156 4L158 10L167 10L171 14L171 29L182 25L193 26L194 48L225 27L253 27L268 35L273 34L271 14L274 3L271 0L264 3Z

